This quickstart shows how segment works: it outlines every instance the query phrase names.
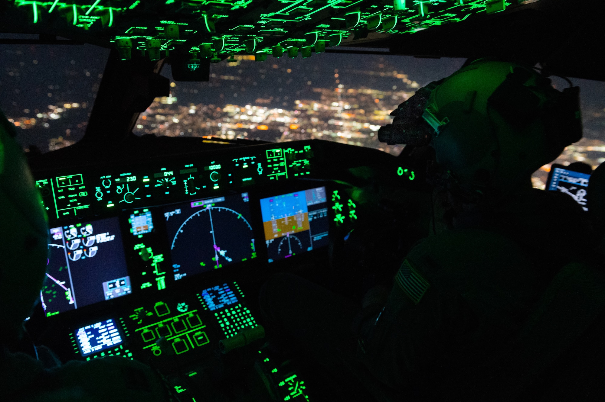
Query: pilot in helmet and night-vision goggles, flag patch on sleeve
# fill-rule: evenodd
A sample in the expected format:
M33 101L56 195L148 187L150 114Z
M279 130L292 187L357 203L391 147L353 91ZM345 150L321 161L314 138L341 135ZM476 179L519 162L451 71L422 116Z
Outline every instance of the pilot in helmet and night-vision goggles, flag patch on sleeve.
M574 253L594 246L580 206L531 183L581 138L578 91L557 91L529 66L477 60L391 115L386 130L399 130L399 143L434 150L430 235L391 289L351 301L279 273L261 291L261 311L336 389L443 400L457 373L505 350ZM489 387L467 380L457 388Z

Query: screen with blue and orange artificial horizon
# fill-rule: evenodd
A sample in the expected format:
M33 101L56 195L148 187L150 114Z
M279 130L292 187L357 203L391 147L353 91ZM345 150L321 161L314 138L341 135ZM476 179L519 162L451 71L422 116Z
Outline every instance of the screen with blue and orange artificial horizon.
M325 187L260 200L269 262L328 244Z

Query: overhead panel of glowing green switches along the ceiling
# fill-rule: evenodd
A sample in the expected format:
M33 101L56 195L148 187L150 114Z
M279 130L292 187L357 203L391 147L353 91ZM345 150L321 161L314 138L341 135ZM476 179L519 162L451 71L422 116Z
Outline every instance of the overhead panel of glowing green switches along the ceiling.
M529 0L535 2L535 0ZM229 54L309 57L378 33L406 36L481 18L518 0L15 0L0 17L21 33L59 36L157 60L172 51L218 62ZM4 21L2 21L4 22ZM13 29L13 31L15 31ZM221 57L223 56L223 57Z

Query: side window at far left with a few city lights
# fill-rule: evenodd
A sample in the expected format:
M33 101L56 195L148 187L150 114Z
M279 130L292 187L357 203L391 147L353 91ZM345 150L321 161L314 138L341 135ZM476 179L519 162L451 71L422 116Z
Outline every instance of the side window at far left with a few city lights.
M0 45L0 110L25 152L54 151L82 138L109 54L94 45Z

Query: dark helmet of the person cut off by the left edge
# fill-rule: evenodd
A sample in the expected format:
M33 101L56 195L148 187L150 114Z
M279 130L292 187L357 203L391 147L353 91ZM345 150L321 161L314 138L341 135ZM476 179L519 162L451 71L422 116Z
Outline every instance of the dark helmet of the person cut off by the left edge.
M47 215L15 126L0 113L0 342L21 335L47 265Z

